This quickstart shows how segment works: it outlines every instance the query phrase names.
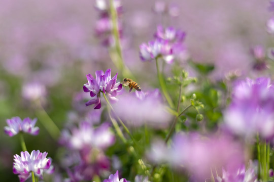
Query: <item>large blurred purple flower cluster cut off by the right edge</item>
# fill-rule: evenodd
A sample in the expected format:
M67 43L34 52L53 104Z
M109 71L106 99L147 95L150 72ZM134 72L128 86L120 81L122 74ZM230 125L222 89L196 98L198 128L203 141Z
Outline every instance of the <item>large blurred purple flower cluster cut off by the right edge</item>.
M252 138L274 136L274 87L270 78L237 81L230 106L224 111L225 126L232 132Z

